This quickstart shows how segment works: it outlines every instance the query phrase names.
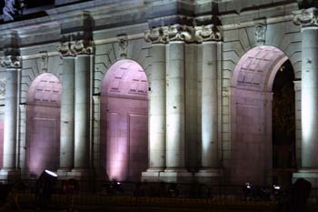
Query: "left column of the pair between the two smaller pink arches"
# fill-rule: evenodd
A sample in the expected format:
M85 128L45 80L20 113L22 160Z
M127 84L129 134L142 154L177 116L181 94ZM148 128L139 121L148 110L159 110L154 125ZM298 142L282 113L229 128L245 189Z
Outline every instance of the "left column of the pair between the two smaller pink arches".
M75 121L75 54L66 42L59 47L63 58L61 96L60 167L59 177L66 177L74 167Z

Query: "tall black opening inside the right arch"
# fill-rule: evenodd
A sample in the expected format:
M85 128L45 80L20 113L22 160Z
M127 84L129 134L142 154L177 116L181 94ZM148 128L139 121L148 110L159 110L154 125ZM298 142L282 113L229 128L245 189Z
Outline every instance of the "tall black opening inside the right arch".
M287 60L273 80L273 183L290 186L295 172L295 92Z

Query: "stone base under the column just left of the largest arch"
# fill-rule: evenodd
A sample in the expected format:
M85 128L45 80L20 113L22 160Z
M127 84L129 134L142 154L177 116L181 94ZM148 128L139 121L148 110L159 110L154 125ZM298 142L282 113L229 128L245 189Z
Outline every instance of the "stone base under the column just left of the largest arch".
M223 177L222 169L201 169L194 174L196 181L206 185L218 185Z

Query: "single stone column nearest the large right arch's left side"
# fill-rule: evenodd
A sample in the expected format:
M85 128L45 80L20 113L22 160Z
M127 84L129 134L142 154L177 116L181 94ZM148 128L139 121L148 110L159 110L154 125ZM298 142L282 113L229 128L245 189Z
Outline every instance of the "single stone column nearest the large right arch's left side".
M221 35L214 25L195 27L195 38L202 43L201 87L201 170L197 177L218 177L218 42Z

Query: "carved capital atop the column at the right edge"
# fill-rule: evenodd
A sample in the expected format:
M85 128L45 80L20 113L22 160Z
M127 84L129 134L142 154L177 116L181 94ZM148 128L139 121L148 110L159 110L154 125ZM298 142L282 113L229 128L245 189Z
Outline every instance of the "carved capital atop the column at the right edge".
M318 10L309 8L293 12L293 23L302 26L318 26Z

